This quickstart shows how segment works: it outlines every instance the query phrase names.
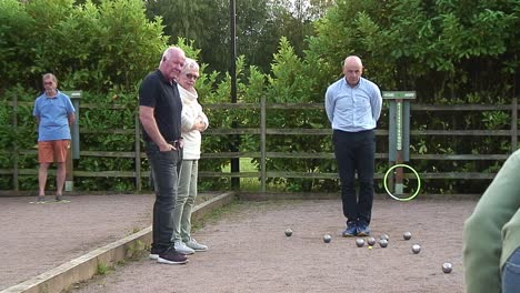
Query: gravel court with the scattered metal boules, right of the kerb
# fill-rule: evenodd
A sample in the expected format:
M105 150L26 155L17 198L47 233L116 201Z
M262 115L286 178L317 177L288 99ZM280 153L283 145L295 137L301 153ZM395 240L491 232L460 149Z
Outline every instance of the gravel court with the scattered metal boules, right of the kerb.
M341 238L341 202L241 202L193 235L208 252L186 265L142 259L76 285L87 292L464 292L462 224L476 201L377 200L372 235L386 249ZM148 211L148 210L147 210ZM284 235L286 229L292 236ZM402 234L412 233L410 241ZM322 236L332 241L323 243ZM411 252L420 244L419 254ZM444 274L444 262L453 265Z

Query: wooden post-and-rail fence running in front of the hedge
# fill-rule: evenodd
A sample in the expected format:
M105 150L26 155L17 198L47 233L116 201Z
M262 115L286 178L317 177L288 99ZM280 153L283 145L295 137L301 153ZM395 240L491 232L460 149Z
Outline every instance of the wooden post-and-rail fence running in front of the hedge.
M28 104L28 103L27 103ZM12 107L18 107L14 102ZM81 109L92 109L97 105L93 104L81 104ZM240 129L214 129L210 128L204 132L204 135L260 135L260 150L258 152L220 152L220 153L203 153L201 160L211 159L240 159L240 158L257 158L260 159L260 170L258 172L210 172L201 170L199 176L201 178L260 178L260 191L266 191L266 182L268 178L299 178L299 179L337 179L337 173L308 173L308 172L288 172L288 171L270 171L266 168L267 159L271 158L291 158L291 159L327 159L332 160L332 152L322 153L307 153L307 152L268 152L266 150L266 140L268 135L331 135L332 131L330 128L327 129L271 129L267 128L267 117L270 110L319 110L323 109L321 103L297 103L297 104L274 104L266 103L264 99L260 103L222 103L222 104L206 104L208 109L248 109L259 110L260 112L260 125L258 128L240 128ZM117 109L117 107L114 107ZM421 112L451 112L454 115L462 111L506 111L510 112L511 117L511 129L509 130L414 130L410 131L410 137L473 137L473 138L498 138L506 137L510 140L511 150L503 153L494 154L472 154L472 153L457 153L457 154L438 154L438 153L413 153L410 154L410 160L442 160L442 161L503 161L506 160L512 150L517 149L518 144L518 101L514 98L511 104L503 105L480 105L480 104L464 104L464 105L428 105L428 104L411 104L411 113L420 114ZM17 115L13 118L13 127L17 128ZM92 132L92 130L82 130L81 133ZM107 152L107 151L80 151L81 158L129 158L134 160L134 170L132 171L120 171L120 170L106 170L106 171L86 171L86 170L73 170L74 178L134 178L136 190L142 189L142 180L149 176L148 171L141 170L141 160L146 158L144 152L141 150L141 134L139 128L139 120L134 118L134 129L127 130L110 130L110 133L120 134L133 134L134 135L134 150L133 152ZM107 133L107 131L104 132ZM377 137L387 137L389 131L384 129L378 129L376 131ZM13 191L19 190L19 175L37 175L36 169L19 169L18 156L20 155L34 155L37 151L32 150L13 150L13 166L12 169L0 169L1 175L12 175L13 178ZM388 152L376 153L377 160L388 160ZM496 173L481 173L481 172L421 172L421 179L427 180L448 180L448 179L460 179L460 180L490 180L494 178ZM377 173L376 180L381 180L383 174Z

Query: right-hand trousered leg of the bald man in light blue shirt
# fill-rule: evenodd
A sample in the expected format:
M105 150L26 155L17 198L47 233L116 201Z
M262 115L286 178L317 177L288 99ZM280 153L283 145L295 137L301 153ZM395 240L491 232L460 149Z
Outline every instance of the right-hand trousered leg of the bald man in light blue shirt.
M370 224L373 204L373 172L376 137L373 131L360 133L356 151L356 169L359 178L358 222Z

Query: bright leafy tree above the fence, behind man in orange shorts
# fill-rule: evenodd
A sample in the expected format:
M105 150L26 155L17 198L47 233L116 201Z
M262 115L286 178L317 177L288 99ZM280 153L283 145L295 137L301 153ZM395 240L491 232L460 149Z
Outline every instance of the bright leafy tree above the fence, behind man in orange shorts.
M53 72L64 89L134 91L166 48L161 22L139 0L0 2L1 89L40 88Z

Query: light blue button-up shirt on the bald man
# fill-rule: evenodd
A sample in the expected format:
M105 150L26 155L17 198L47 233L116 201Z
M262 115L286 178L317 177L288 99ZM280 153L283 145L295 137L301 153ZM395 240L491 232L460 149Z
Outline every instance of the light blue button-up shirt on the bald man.
M381 105L381 91L368 79L360 78L352 88L341 78L327 89L324 108L333 130L359 132L374 129Z

